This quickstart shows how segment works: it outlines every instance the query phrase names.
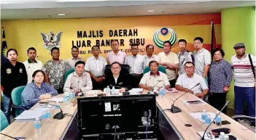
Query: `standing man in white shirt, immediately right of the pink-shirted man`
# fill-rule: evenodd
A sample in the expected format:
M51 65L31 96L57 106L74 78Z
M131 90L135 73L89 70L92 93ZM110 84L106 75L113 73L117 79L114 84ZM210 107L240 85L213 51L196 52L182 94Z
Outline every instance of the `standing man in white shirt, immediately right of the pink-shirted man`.
M131 44L131 54L125 58L125 65L130 66L130 75L133 78L133 88L139 87L143 75L144 57L138 54L139 48L137 44Z

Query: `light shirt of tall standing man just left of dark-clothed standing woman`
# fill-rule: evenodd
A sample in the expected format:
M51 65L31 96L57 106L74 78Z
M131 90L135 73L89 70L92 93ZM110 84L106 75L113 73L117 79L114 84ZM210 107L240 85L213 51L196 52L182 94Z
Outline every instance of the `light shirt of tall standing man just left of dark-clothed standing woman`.
M210 65L212 58L211 53L207 49L201 49L199 52L193 52L195 57L195 73L203 76L203 70L206 65Z

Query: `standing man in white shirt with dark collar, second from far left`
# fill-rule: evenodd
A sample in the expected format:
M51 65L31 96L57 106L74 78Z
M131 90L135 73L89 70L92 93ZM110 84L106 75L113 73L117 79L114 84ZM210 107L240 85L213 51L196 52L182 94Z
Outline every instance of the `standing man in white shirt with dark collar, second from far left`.
M28 48L28 60L23 62L23 64L26 67L26 72L28 75L28 83L32 82L32 75L36 70L42 70L43 65L42 62L39 60L36 60L36 49L34 47Z

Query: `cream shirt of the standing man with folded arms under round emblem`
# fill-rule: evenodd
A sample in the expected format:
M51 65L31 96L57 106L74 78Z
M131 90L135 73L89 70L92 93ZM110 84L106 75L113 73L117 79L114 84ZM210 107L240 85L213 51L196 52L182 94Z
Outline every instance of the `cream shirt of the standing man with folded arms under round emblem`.
M179 58L174 52L169 52L168 55L166 55L164 52L160 52L158 54L158 58L159 62L168 62L171 63L171 65L179 64ZM166 69L166 75L168 81L174 80L176 78L176 70Z

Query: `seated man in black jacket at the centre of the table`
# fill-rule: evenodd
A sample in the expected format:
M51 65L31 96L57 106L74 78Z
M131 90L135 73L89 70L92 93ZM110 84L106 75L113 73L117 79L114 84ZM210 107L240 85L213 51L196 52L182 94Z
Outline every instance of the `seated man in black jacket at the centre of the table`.
M131 89L131 83L129 82L131 77L129 75L125 75L125 73L120 73L121 71L121 65L119 62L113 62L111 65L111 74L110 75L105 75L105 80L104 80L104 86L109 86L112 88L112 86L120 86L120 92L124 92L125 88ZM118 87L115 87L118 88Z

